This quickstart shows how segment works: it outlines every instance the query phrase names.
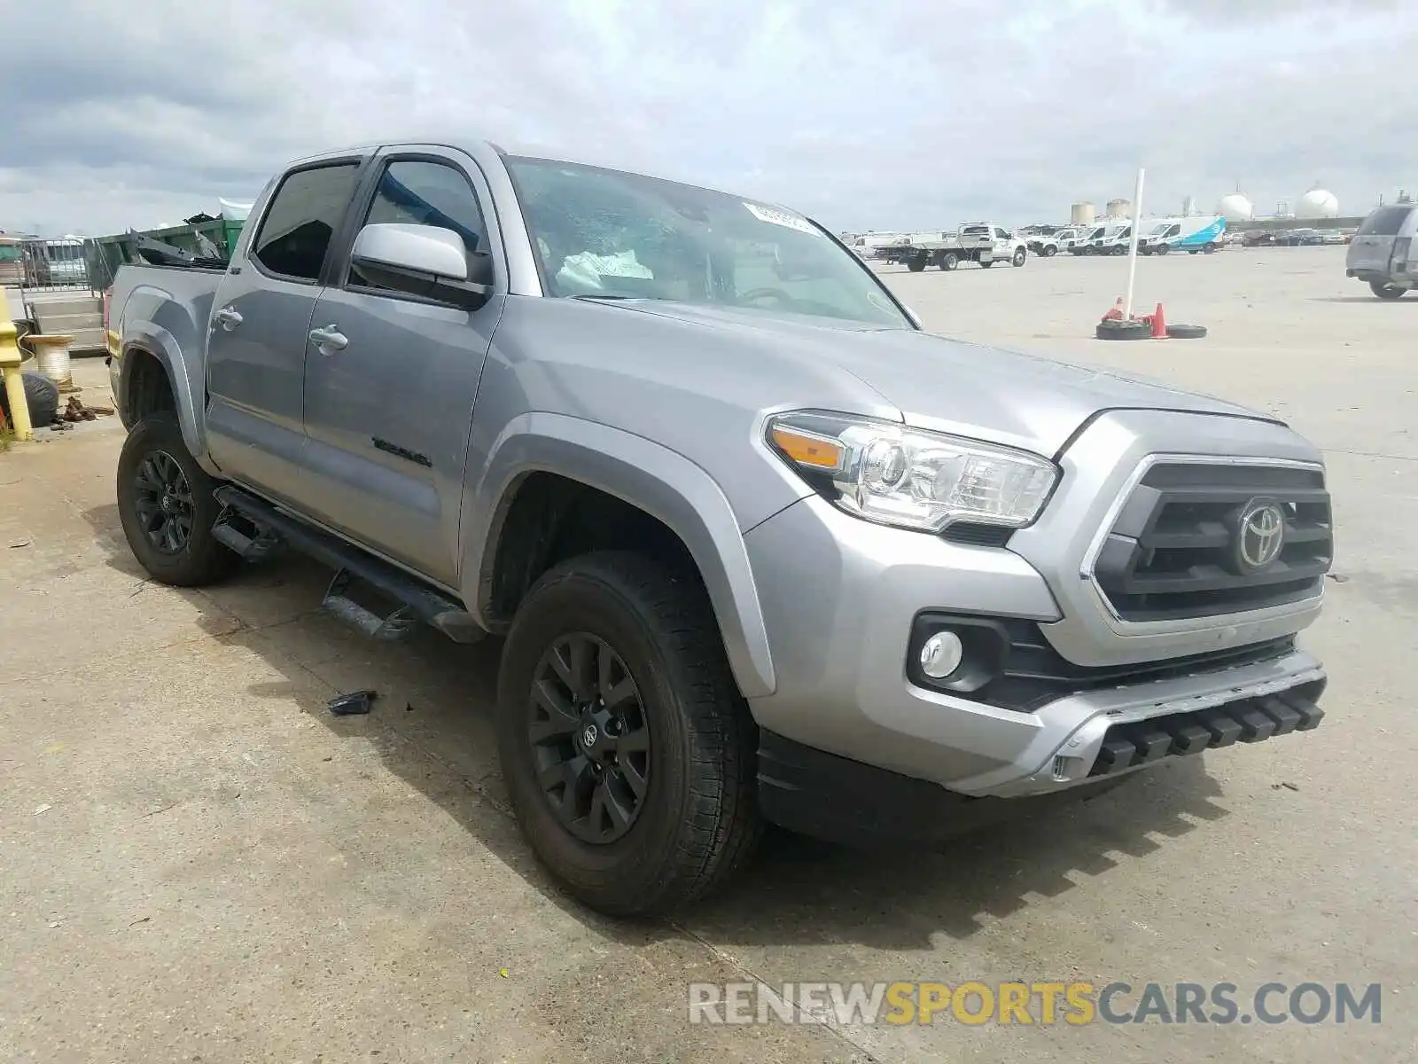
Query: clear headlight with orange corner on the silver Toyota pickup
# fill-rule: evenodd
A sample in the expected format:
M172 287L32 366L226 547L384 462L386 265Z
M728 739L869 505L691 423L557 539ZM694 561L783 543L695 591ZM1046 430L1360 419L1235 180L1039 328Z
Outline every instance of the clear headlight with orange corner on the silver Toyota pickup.
M1022 528L1058 480L1035 454L841 414L778 414L767 437L848 514L925 532L961 521Z

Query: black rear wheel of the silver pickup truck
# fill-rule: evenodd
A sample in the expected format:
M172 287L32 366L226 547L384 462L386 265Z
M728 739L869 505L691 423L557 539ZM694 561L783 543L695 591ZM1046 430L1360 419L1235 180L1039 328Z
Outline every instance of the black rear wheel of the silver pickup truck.
M116 487L128 546L159 583L201 587L241 562L213 536L220 481L197 465L172 414L133 426L118 455Z

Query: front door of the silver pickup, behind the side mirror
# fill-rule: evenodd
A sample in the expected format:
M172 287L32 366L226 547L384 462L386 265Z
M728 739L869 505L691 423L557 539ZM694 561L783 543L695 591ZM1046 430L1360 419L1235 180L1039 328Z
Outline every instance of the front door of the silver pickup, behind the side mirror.
M489 203L481 170L461 152L383 152L349 241L374 223L452 228L469 253L492 251L498 292L462 311L380 288L349 265L346 241L309 322L345 343L311 339L305 359L306 508L447 586L457 583L472 403L505 298Z

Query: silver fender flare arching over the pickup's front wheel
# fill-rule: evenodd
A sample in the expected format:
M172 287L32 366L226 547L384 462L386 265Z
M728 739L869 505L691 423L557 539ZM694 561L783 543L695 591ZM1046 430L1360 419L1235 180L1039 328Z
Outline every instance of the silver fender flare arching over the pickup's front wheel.
M515 417L493 441L462 505L462 597L486 626L491 569L518 484L554 472L638 506L666 525L699 566L744 698L777 677L743 532L718 482L678 451L610 426L552 413ZM574 472L571 472L574 471Z

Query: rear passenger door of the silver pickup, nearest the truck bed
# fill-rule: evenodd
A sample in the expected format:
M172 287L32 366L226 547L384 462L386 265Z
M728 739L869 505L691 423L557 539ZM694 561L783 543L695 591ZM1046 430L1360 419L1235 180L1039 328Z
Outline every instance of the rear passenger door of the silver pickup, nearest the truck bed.
M360 157L288 172L221 278L207 339L207 440L228 477L301 495L305 336Z

